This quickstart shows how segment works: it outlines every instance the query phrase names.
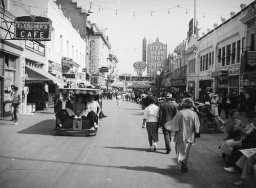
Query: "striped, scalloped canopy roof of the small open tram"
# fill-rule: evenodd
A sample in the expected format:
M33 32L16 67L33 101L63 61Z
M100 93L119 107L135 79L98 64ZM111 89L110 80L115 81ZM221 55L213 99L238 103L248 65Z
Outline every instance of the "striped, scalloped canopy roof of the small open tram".
M77 95L79 94L101 94L103 91L101 89L92 89L92 88L57 88L57 92L60 93L75 93Z

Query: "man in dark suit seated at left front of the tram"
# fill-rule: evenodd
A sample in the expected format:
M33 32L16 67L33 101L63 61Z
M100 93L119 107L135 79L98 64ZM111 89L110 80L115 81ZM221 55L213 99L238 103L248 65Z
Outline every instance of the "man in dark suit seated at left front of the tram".
M73 106L71 101L67 98L67 95L67 93L62 93L62 98L59 99L54 105L54 113L56 117L56 126L54 130L62 127L61 124L63 124L67 117L69 117L68 111L73 110Z

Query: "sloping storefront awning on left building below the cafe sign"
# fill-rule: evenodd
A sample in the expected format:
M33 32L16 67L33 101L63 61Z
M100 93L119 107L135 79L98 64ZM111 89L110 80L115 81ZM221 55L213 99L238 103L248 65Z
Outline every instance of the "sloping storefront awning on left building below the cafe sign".
M46 72L43 69L27 66L25 67L28 77L25 79L26 84L49 83L57 84L59 87L66 86L67 84L55 77L54 75Z

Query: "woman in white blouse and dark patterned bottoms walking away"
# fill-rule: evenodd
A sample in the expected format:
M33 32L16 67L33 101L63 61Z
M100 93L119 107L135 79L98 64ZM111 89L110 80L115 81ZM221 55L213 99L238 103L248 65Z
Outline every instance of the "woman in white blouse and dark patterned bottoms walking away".
M148 105L144 109L143 114L143 123L142 128L145 128L146 122L146 130L148 134L148 141L150 142L150 150L157 150L157 142L158 142L158 115L159 115L159 107L155 105L155 98L150 96L148 99L150 105ZM152 142L154 142L154 149Z

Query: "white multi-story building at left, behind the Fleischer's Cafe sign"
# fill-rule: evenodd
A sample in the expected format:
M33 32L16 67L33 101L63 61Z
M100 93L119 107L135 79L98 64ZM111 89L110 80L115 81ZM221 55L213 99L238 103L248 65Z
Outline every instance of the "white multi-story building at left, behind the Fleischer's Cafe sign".
M50 19L51 40L6 40L13 39L15 18L27 16L32 20L34 16L31 15ZM44 89L50 94L50 104L53 103L56 87L65 85L63 74L78 79L86 78L82 72L86 67L86 41L73 28L71 19L63 15L61 6L52 0L24 0L12 4L4 1L1 4L1 43L4 45L1 45L0 72L2 87L5 88L1 92L1 116L10 112L9 88L12 84L18 86L20 93L27 86L30 90L28 102L38 107L42 105ZM5 82L7 77L8 82Z

